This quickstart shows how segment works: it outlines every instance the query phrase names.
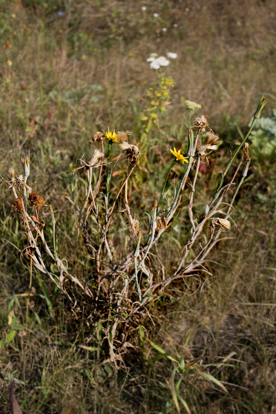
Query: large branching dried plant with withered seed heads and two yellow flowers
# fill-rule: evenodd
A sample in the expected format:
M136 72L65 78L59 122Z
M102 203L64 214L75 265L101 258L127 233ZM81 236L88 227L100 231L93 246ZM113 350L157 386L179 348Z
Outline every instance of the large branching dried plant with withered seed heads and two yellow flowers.
M265 103L266 101L262 99L261 108ZM192 103L188 102L188 104L191 106ZM259 116L259 112L256 112L256 116ZM252 124L254 124L256 116L253 118ZM196 151L196 144L206 129L204 142ZM75 201L73 197L67 197L74 207L85 247L94 262L92 284L83 284L79 277L69 272L67 261L58 257L55 246L56 220L51 206L54 253L48 247L44 238L44 227L38 216L39 209L41 207L46 208L45 200L36 190L32 191L26 183L29 176L30 159L28 156L25 155L25 158L22 158L25 167L24 180L23 176L15 179L15 172L10 170L9 188L12 189L16 199L13 207L22 216L27 236L28 247L25 249L25 255L30 258L37 271L51 279L72 306L75 307L75 302L80 300L87 303L87 323L90 325L91 332L93 332L90 340L94 341L95 344L100 344L101 347L104 347L104 343L107 344L109 361L115 364L121 361L121 355L126 352L128 346L131 346L129 342L131 332L138 327L141 319L151 317L149 303L153 303L160 296L160 291L164 291L167 286L176 283L178 279L187 283L189 278L198 275L200 279L200 274L208 272L205 264L209 252L219 240L225 239L225 237L220 237L221 232L224 229L227 231L231 229L232 206L247 175L251 161L248 144L245 142L251 129L252 126L238 148L240 149L244 144L244 154L230 182L223 185L226 172L235 156L237 156L238 149L232 154L224 173L221 173L217 190L205 206L205 212L202 214L194 203L199 166L202 162L201 157L209 165L207 155L218 148L220 138L208 127L204 116L196 118L194 125L188 131L187 156L184 156L180 150L177 151L175 148L171 150L174 159L172 166L169 168L169 173L177 163L184 168L184 171L179 176L176 185L173 185L174 181L168 182L168 173L159 201L155 199L153 202L150 223L146 231L140 226L139 221L133 218L131 198L128 196L128 180L138 163L138 147L127 142L128 131L116 133L115 130L114 132L108 130L104 134L96 132L93 135L92 142L93 145L99 145L100 149L94 148L89 161L84 161L82 156L80 167L72 172L73 177L75 177L77 171L81 173L79 172L81 169L85 172L84 197L82 200L78 198L78 201ZM104 140L107 140L106 149L104 149ZM120 156L119 148L122 150L126 161L121 160L121 162L125 162L125 176L121 185L119 187L114 186L111 194L112 171L110 172L110 169L112 161L110 159L110 149L112 145L116 146L118 156ZM245 166L238 180L235 193L230 196L230 189L234 185L234 179L238 179L237 173L243 163ZM97 178L96 183L92 185L93 174ZM73 182L75 182L75 178ZM174 265L171 267L174 270L164 270L162 257L158 258L162 268L160 276L157 265L153 261L153 246L161 243L161 236L164 233L164 236L166 236L168 234L166 233L167 229L177 221L176 213L184 208L183 190L185 186L189 188L189 196L186 197L190 222L188 238L179 253L179 257L175 259ZM125 190L124 193L123 189ZM27 190L30 193L29 202L36 207L36 217L27 212L30 207L26 206L24 202L22 190L23 192ZM156 190L158 191L158 189ZM226 195L228 198L226 198ZM125 223L125 231L131 229L133 232L132 247L129 247L126 256L120 259L118 259L118 255L114 258L114 251L108 237L113 228L112 226L116 229L115 217L119 213L116 211L116 205L119 197L124 202L124 213L128 220ZM210 222L211 224L208 225ZM231 235L230 232L229 237ZM40 243L38 243L38 238ZM45 254L41 254L41 249L48 256L51 265L56 268L56 274L48 271L49 266L45 265ZM75 283L79 298L76 297L74 285L69 284L66 279ZM128 327L128 329L119 329L123 326ZM102 339L99 339L99 332L101 332Z

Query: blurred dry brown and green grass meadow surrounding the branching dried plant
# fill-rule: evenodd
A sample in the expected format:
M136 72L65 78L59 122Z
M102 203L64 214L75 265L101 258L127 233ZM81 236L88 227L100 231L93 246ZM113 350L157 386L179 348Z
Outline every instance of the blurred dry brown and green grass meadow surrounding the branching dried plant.
M269 0L0 0L3 413L9 412L13 379L24 413L61 413L66 406L63 414L177 412L169 386L172 360L154 358L148 339L174 358L204 357L225 384L228 393L189 377L181 395L191 412L276 412L275 19L276 4ZM166 69L175 82L169 104L160 123L147 130L147 92L156 73L146 60L153 52L178 57ZM162 189L169 149L186 149L184 101L200 103L223 139L211 168L201 171L206 202L221 160L241 141L262 94L270 101L249 140L254 160L233 216L235 238L213 251L208 261L213 276L204 287L183 295L175 286L155 303L154 323L148 320L141 328L119 371L104 360L96 363L85 319L64 308L53 286L39 277L24 335L29 271L20 255L19 215L6 192L8 167L21 173L20 158L31 151L29 184L53 205L58 253L70 258L81 279L91 258L65 195L71 194L76 159L90 151L90 137L107 127L132 132L140 163L131 200L142 221ZM120 174L118 166L118 182ZM168 267L182 233L189 231L185 220L182 214L169 247L159 252ZM111 237L114 250L124 246L124 234Z

